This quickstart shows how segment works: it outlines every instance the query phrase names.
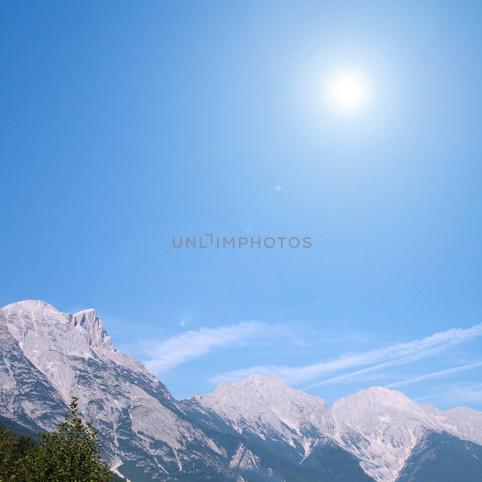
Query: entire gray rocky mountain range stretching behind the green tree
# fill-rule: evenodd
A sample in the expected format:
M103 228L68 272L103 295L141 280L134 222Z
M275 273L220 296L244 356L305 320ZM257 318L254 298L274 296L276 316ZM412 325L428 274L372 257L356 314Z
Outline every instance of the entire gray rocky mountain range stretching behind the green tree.
M71 396L132 482L480 482L482 412L371 387L335 402L273 376L175 400L116 350L94 309L0 309L0 421L52 430Z

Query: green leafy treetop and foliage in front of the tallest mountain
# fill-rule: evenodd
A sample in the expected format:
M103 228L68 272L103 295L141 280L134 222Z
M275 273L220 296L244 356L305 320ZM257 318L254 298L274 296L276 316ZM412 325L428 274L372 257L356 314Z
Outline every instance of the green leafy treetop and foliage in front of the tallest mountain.
M101 459L98 431L80 418L77 399L52 433L13 439L0 433L0 482L109 482L112 473Z

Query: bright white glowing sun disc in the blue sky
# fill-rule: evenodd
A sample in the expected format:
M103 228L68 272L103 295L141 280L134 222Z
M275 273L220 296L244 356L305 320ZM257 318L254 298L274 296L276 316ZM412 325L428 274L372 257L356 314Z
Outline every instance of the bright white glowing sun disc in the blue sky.
M357 73L336 73L327 82L327 100L336 110L359 110L365 104L367 94L366 82Z

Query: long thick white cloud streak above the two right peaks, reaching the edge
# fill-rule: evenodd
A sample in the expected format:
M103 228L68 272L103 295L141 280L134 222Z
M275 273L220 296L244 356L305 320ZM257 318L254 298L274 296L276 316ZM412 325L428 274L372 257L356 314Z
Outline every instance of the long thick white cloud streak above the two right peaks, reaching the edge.
M288 384L297 385L309 382L328 373L335 373L356 366L378 363L374 367L369 367L350 374L339 375L339 377L323 380L308 387L312 388L324 383L340 380L342 379L341 377L349 377L391 365L412 362L426 356L437 354L450 346L481 335L482 323L467 329L451 328L450 330L435 333L434 335L427 336L421 340L415 340L408 343L396 343L385 348L377 348L362 353L346 353L330 362L295 367L286 365L252 366L250 368L243 368L241 370L234 370L216 375L210 381L216 383L240 382L249 375L257 373L260 375L275 375L282 378Z

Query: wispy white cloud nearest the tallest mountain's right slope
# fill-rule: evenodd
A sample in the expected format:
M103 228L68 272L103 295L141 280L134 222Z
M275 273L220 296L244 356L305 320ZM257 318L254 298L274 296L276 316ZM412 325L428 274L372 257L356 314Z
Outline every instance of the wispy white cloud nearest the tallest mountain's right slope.
M259 321L241 321L219 328L201 328L156 343L147 350L146 368L160 374L181 363L208 354L214 348L243 345L250 338L265 334L268 327Z

